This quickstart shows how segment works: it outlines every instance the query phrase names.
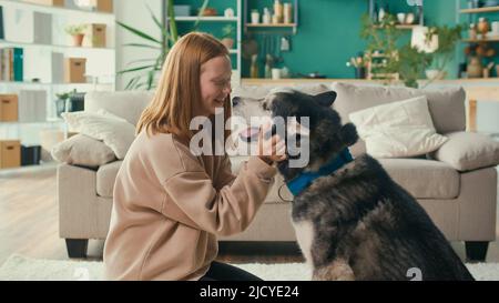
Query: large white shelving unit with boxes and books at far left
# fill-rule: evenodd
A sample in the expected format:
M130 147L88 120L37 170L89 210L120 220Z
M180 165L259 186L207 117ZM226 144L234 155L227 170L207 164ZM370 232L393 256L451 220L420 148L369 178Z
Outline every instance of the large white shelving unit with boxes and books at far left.
M67 6L72 1L67 1ZM40 122L1 122L0 140L20 140L22 144L40 144L40 130L64 131L62 119L57 117L55 94L88 91L114 91L116 50L115 14L90 11L71 7L42 6L21 0L0 0L3 9L4 39L0 48L22 48L23 81L0 81L0 93L19 93L22 90L43 90L47 92L47 119ZM51 18L51 43L37 43L34 38L33 13L49 14ZM105 48L74 47L72 39L64 32L65 26L79 23L101 23L106 26ZM88 39L88 38L86 38ZM64 58L86 59L85 83L62 83L52 80L52 53L62 53Z

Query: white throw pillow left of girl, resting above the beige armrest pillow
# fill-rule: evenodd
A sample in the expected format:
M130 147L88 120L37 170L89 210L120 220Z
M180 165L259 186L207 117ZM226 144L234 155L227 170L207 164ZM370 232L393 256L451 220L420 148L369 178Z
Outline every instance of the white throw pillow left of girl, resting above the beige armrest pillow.
M70 131L102 140L120 160L124 159L135 139L134 125L104 110L99 111L99 113L68 112L63 113L62 117Z

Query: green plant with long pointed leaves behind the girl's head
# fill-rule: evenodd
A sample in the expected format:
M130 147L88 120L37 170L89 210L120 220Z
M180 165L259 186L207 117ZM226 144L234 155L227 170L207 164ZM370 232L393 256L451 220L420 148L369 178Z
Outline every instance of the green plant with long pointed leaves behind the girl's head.
M164 0L167 7L167 26L163 24L160 19L153 13L151 8L147 6L147 10L151 14L151 19L154 24L160 29L161 37L155 38L142 30L133 28L123 22L116 21L118 26L122 29L133 33L136 38L141 39L141 42L135 43L126 43L124 47L134 47L142 49L152 49L157 51L156 57L154 58L144 58L140 60L135 60L128 63L128 68L125 70L119 71L118 74L123 75L128 73L135 74L132 79L126 83L125 90L138 90L145 89L152 90L155 88L155 79L159 72L161 71L164 60L166 59L167 53L171 48L179 40L179 31L175 21L175 12L173 9L174 0ZM193 26L193 30L196 30L200 23L200 17L203 14L204 9L208 4L208 0L204 0L202 7L200 8L200 12L197 14L197 20Z

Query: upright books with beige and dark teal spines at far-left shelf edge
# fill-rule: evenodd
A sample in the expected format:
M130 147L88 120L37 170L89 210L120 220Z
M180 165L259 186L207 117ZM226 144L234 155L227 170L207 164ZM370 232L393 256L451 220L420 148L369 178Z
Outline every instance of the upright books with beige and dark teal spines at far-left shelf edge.
M22 48L0 49L0 81L22 82L24 70Z

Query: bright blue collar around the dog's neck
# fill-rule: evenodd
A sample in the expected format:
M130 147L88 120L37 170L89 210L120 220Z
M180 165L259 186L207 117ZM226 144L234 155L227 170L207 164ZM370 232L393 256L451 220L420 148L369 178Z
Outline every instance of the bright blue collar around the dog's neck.
M348 149L344 149L338 156L333 159L333 161L328 164L322 166L317 172L301 173L298 176L287 182L286 185L293 195L297 196L317 178L329 175L352 161L354 161L354 158L352 156L350 151Z

